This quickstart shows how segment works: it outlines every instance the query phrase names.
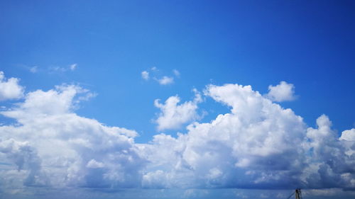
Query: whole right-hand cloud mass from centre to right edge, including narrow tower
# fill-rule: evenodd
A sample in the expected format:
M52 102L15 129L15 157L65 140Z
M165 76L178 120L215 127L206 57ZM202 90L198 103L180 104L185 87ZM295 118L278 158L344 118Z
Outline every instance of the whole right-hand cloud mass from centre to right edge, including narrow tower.
M210 85L204 93L231 113L193 123L177 138L155 135L143 144L153 163L143 178L149 179L146 186L355 188L355 159L348 155L354 142L339 141L326 115L317 119L317 128L307 128L300 116L251 86Z

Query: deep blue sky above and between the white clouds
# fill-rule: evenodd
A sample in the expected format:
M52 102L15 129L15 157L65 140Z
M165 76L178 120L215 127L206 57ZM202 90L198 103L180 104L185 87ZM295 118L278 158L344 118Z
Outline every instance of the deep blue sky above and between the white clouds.
M355 127L354 10L354 1L0 1L0 70L6 78L21 79L25 93L62 84L88 89L97 96L80 103L75 113L136 130L136 143L151 142L160 132L177 137L188 131L188 123L157 129L155 99L164 103L178 95L182 102L192 101L192 89L203 93L209 84L251 85L266 94L280 81L295 86L295 100L280 106L291 108L307 127L316 128L317 118L327 115L340 137ZM148 81L143 71L150 73ZM173 77L173 84L153 79L163 76ZM0 105L9 110L22 101ZM209 123L229 112L204 97L197 121ZM16 118L1 115L0 121L11 125ZM161 192L155 192L159 198ZM92 197L100 194L110 197L109 192ZM130 190L126 197L134 194Z

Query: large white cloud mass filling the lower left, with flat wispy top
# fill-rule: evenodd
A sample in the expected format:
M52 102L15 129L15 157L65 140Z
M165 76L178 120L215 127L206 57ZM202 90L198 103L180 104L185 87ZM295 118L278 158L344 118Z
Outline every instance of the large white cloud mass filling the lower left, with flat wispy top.
M33 91L23 103L1 114L17 121L0 126L1 162L13 164L2 176L16 176L23 186L137 187L146 161L134 130L108 127L73 111L87 90L75 85ZM13 179L2 178L7 184ZM6 190L5 190L6 191Z

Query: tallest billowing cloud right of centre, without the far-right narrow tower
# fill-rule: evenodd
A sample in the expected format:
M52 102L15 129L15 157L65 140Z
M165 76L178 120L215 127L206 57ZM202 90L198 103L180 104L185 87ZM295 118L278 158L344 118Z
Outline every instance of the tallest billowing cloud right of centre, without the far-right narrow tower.
M174 186L263 188L300 184L293 175L302 166L302 149L295 147L305 138L302 118L263 98L251 86L211 85L205 94L231 106L231 113L218 115L211 123L194 123L187 127L186 135L176 139L156 136L153 146L158 149L152 151L160 152L165 142L169 147L161 156L147 155L160 163L160 169L169 171L165 175L172 176ZM145 152L150 152L151 146L146 148ZM175 183L178 178L190 180Z

